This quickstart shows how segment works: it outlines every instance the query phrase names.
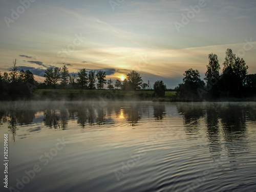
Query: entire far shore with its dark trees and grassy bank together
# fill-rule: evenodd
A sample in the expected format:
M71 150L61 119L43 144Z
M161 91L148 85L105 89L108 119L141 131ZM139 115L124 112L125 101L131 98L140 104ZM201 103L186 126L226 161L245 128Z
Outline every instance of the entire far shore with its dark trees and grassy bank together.
M157 80L151 89L136 71L113 84L112 79L105 79L104 71L80 69L75 74L69 73L67 66L49 67L44 73L45 81L37 82L32 72L18 69L15 59L9 73L0 72L0 100L256 101L256 74L248 74L243 58L227 49L222 73L218 56L211 53L208 59L204 80L198 70L190 68L173 90L167 90L162 80Z

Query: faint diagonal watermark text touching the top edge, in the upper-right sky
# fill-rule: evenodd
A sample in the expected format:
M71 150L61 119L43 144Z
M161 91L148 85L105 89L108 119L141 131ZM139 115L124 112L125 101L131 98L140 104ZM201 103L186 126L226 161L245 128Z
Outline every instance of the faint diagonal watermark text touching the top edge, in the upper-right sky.
M211 0L209 0L211 1ZM181 13L181 23L179 22L174 22L174 25L176 27L176 30L180 32L180 28L184 28L187 24L190 23L190 20L195 18L196 14L198 14L201 11L201 8L204 8L206 6L206 2L204 0L199 0L198 5L195 6L189 6L191 9L190 11L187 12L187 14Z

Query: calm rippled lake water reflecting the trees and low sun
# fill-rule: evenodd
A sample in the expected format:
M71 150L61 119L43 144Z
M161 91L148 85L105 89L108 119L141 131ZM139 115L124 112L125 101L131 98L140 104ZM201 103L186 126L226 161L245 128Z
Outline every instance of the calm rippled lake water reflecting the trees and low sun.
M256 191L255 102L0 104L20 191Z

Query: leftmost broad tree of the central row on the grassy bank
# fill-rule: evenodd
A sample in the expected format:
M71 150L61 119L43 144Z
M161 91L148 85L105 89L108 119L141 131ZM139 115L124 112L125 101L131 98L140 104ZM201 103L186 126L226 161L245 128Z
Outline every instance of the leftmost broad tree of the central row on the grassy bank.
M60 79L60 68L58 67L50 67L45 71L44 74L45 83L47 86L53 87L54 89L56 88L56 84L58 80Z

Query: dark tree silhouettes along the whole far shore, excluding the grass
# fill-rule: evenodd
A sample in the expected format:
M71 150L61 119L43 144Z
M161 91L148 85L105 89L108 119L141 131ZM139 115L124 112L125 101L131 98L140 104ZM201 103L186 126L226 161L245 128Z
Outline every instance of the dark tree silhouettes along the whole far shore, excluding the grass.
M223 71L220 73L220 64L216 54L209 54L209 63L206 66L205 78L202 80L198 70L185 71L183 82L175 89L177 94L172 96L176 101L200 101L203 99L244 98L256 94L256 74L247 72L248 66L243 58L236 57L231 49L227 49L223 62ZM112 79L108 81L106 73L81 69L77 75L69 73L67 66L61 68L50 67L46 69L44 82L36 82L34 74L27 70L18 71L17 60L13 61L10 72L0 73L1 100L30 99L35 89L103 89L107 84L109 90L120 89L124 91L145 90L148 84L144 83L141 75L131 71L121 81ZM166 86L162 80L154 83L155 97L164 98Z

